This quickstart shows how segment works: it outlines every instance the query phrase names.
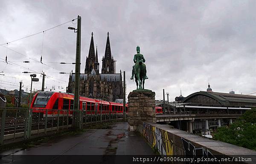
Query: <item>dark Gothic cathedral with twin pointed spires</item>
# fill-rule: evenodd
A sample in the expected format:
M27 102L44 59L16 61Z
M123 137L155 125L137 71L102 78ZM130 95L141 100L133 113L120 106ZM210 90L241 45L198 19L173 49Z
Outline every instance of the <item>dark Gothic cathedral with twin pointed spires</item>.
M74 80L75 74L72 72L67 87L67 92L69 93L74 93ZM122 75L121 70L119 74L116 74L116 60L111 55L109 33L105 55L102 58L101 74L99 74L98 48L96 46L95 52L92 33L89 54L85 61L84 74L80 75L80 95L111 102L122 99Z

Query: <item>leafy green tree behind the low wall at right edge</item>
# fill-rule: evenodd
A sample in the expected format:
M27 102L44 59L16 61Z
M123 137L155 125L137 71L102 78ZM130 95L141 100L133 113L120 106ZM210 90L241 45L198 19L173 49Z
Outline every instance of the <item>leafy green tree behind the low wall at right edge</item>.
M218 127L213 138L256 150L256 109L247 110L229 126Z

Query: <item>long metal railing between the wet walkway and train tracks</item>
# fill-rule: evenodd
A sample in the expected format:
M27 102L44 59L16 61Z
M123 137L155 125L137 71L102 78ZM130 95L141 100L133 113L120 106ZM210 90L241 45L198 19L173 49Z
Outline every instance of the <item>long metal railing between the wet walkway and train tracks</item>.
M0 108L0 144L19 138L44 136L47 133L67 130L72 127L73 113L77 112L79 127L123 119L121 111L110 110L32 110L27 108Z

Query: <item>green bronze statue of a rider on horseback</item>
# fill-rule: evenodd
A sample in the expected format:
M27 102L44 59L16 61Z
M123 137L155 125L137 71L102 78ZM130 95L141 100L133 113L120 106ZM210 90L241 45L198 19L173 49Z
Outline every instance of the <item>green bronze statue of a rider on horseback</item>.
M137 54L134 55L134 66L132 67L132 74L131 74L131 80L134 79L135 75L135 82L137 85L137 89L144 89L144 83L145 79L148 79L147 77L147 69L145 65L145 58L143 57L143 54L140 54L140 47L137 46ZM138 88L139 85L139 88Z

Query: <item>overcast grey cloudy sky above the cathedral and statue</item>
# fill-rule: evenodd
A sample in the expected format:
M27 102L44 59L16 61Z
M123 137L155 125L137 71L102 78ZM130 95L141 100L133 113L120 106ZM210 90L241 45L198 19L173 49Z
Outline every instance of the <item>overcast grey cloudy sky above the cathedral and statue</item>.
M29 91L29 74L22 72L44 71L47 89L64 91L69 74L58 72L69 73L75 70L75 65L57 62L75 62L76 34L67 27L76 27L76 21L44 34L11 41L80 15L81 73L92 31L101 70L109 31L111 51L117 60L116 72L126 71L128 93L136 89L129 78L137 45L146 59L149 79L145 88L155 91L156 99L163 99L163 88L173 101L180 89L183 96L188 96L206 90L208 82L216 92L233 89L236 93L253 93L256 92L255 7L253 0L1 0L0 74L5 76L0 75L0 88L18 89L19 81L23 80L23 89ZM8 48L6 42L11 42ZM6 53L9 64L5 62ZM46 65L38 62L41 56ZM40 89L42 77L37 76L40 81L33 88Z

